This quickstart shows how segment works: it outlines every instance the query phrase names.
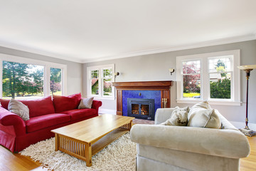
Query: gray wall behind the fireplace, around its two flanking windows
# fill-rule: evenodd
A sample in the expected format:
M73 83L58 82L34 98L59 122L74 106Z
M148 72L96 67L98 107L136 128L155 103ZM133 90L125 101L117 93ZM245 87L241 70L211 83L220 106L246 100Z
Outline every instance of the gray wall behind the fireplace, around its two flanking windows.
M115 71L119 71L116 81L176 81L176 73L170 76L169 68L176 68L176 56L186 56L198 53L211 53L217 51L229 51L240 49L241 65L256 64L256 41L244 41L239 43L223 44L218 46L208 46L203 48L193 48L182 51L172 51L166 53L156 53L145 56L135 56L129 58L119 58L108 61L100 61L83 64L83 95L86 96L86 68L87 66L100 66L114 63ZM249 95L249 123L256 123L256 70L250 76ZM230 121L244 122L245 120L245 100L246 100L246 79L245 72L241 71L241 106L212 105L217 108L225 118ZM116 110L115 100L102 100L102 108ZM171 88L171 107L186 106L191 104L176 103L176 83Z

